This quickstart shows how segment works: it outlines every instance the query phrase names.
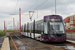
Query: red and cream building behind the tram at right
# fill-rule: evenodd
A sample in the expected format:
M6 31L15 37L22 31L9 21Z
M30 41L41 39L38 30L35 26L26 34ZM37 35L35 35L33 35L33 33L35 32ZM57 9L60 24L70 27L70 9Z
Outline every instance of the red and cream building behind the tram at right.
M75 31L75 14L64 19L66 31Z

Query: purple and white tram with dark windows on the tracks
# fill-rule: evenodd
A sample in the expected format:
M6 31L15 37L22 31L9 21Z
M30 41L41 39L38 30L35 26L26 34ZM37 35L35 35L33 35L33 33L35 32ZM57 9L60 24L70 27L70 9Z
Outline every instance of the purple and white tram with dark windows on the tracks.
M22 31L26 32L21 33L24 36L44 42L66 41L65 26L60 15L47 15L42 20L27 23Z

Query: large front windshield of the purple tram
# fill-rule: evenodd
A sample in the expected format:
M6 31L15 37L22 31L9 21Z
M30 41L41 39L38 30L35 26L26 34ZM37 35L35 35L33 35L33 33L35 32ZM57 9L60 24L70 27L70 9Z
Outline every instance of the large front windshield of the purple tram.
M49 25L50 25L50 34L65 33L64 24L62 21L57 21L56 19L52 19L52 21L49 22Z

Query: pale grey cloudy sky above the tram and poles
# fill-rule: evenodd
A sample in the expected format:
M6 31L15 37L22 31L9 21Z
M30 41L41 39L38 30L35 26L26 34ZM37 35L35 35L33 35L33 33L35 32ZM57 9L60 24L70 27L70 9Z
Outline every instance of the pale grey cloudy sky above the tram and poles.
M38 7L38 8L37 8ZM0 29L4 21L8 29L19 26L19 8L21 8L21 25L33 20L43 19L45 15L55 14L55 0L0 0ZM32 21L29 19L29 11ZM75 0L56 0L56 14L63 19L75 13Z

